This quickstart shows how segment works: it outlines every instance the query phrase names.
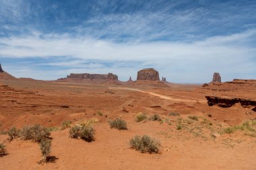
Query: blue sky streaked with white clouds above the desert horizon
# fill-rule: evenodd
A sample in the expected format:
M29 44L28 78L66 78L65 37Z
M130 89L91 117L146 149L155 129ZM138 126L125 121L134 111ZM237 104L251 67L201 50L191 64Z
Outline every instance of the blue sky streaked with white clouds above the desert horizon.
M44 80L148 67L176 83L256 79L256 1L0 0L0 62Z

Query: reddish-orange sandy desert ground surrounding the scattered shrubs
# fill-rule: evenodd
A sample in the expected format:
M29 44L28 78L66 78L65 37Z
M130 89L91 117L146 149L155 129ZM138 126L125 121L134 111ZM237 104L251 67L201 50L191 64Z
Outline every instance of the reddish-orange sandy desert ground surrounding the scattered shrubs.
M65 120L74 124L84 118L98 122L93 142L69 138L68 128L55 128L51 156L57 159L42 165L37 163L42 156L36 142L19 138L10 142L0 134L8 153L0 157L0 169L256 169L256 137L243 130L223 132L256 118L256 112L240 103L230 108L209 106L205 99L205 95L254 99L255 85L240 86L1 79L0 130L33 124L58 128ZM148 117L158 114L162 122L136 122L141 112ZM125 120L128 130L111 129L108 120L115 118ZM130 148L129 140L143 134L160 140L160 153Z

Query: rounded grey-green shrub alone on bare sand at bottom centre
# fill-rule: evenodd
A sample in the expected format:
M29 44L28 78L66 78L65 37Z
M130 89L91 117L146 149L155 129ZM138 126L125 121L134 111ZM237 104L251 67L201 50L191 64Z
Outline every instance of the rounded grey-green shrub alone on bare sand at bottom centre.
M160 142L147 135L135 136L130 140L130 146L141 153L158 153Z

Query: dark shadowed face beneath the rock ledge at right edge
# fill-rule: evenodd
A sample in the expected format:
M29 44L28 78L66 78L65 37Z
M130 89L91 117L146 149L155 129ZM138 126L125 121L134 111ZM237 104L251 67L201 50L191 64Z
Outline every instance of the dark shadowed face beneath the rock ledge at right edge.
M241 103L244 108L252 108L256 112L256 99L247 99L239 97L218 97L218 96L205 96L208 105L218 105L222 108L230 108L235 103Z

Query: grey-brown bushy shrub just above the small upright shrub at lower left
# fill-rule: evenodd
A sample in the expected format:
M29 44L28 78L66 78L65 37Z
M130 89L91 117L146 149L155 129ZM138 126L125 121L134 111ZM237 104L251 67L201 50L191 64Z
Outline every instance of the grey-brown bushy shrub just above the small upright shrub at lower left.
M50 135L50 130L42 127L40 124L25 126L20 132L23 140L33 140L34 142L41 142L41 140L49 138Z

